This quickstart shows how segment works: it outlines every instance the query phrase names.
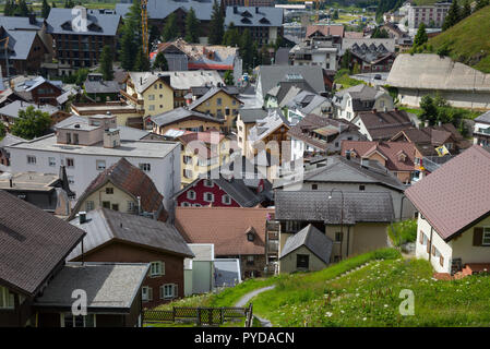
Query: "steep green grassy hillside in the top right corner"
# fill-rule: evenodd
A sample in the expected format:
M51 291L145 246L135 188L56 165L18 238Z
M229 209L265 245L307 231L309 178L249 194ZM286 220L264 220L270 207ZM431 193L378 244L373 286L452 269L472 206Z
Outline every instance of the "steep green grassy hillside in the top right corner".
M490 5L431 38L432 52L446 46L452 59L490 73Z

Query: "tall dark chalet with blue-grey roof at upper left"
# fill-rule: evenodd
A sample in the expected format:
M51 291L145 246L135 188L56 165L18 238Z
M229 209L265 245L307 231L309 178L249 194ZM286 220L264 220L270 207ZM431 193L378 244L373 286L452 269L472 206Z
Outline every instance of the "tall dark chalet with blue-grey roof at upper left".
M76 17L83 21L75 21ZM117 52L121 16L113 11L52 8L46 23L56 47L56 59L63 67L58 75L71 75L80 68L96 65L105 46Z

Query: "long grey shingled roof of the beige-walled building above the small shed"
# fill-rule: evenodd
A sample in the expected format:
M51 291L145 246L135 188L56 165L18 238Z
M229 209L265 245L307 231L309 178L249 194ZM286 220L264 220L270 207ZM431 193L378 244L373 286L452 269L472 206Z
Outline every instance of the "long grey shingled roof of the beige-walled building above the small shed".
M393 201L389 192L344 191L344 205L338 192L276 191L275 206L278 220L322 221L326 225L357 222L391 222L394 219ZM340 219L342 213L344 219Z

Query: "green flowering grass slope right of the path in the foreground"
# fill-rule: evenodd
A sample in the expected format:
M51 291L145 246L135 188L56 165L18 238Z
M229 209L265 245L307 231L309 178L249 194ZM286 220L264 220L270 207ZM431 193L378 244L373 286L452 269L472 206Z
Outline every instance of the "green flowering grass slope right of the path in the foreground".
M392 257L332 280L337 274L333 269L343 263L352 262L291 276L259 294L255 313L275 326L488 326L490 322L489 276L438 281L429 262ZM413 316L398 311L404 289L414 292Z

